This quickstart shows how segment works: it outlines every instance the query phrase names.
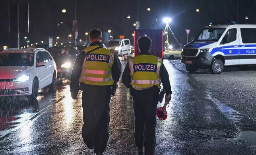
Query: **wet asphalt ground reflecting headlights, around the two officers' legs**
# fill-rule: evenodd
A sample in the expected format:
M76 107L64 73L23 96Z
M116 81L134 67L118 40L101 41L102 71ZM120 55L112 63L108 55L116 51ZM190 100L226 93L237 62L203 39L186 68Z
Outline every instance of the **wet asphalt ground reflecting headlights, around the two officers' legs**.
M155 154L255 155L256 71L231 68L219 75L204 70L188 74L179 60L164 63L173 99L167 108L167 120L157 122ZM122 64L124 69L125 62ZM136 155L132 98L124 85L118 85L111 99L110 139L105 153ZM7 104L12 98L8 100ZM1 101L1 155L93 154L80 134L81 100L72 100L68 85L58 87L55 94L43 92L34 102L20 99L12 104ZM200 129L205 130L192 131ZM224 132L235 136L202 137L221 137Z

